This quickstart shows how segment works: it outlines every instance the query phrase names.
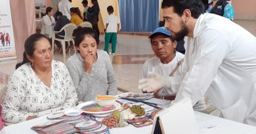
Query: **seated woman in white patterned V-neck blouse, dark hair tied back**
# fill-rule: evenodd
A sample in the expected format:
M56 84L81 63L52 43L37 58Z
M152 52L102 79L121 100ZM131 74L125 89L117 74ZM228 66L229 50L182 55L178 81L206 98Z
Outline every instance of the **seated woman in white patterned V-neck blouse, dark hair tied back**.
M75 107L77 93L60 61L53 60L47 37L33 34L25 42L22 63L9 79L3 103L3 120L18 123L61 109Z

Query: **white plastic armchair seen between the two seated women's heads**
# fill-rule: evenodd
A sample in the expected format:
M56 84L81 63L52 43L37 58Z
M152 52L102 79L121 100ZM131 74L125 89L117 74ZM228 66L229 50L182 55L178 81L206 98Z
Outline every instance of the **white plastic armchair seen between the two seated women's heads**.
M64 59L66 59L66 45L65 42L68 41L68 46L70 46L70 41L73 42L73 44L75 44L75 41L72 37L73 31L76 28L75 24L66 24L64 25L64 27L62 27L62 29L60 29L60 31L53 31L53 40L52 40L52 47L53 47L53 52L54 52L54 41L60 41L61 45L62 45L62 52L63 52L63 57ZM60 33L61 31L65 31L65 36L64 39L58 39L55 37L55 34ZM75 47L74 47L75 48ZM75 49L76 52L76 49Z

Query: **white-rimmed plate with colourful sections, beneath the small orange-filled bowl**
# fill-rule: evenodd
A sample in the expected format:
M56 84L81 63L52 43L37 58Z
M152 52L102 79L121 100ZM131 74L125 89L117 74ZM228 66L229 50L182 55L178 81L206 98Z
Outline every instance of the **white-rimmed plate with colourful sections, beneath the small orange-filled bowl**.
M114 102L113 105L109 107L102 107L98 105L96 101L87 101L77 105L77 109L87 114L106 114L118 110L120 107L121 105L117 102Z

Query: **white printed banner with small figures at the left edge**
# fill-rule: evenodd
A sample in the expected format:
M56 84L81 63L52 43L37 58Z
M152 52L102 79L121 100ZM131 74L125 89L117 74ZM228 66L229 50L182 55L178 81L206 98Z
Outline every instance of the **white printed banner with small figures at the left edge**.
M22 34L22 33L20 33ZM9 0L0 1L0 61L16 59Z

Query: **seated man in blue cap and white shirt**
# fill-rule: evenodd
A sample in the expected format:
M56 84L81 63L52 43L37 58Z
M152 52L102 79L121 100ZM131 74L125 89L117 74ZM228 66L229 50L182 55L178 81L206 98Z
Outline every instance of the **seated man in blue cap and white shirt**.
M142 83L145 82L146 78L160 78L162 79L161 81L166 84L163 88L154 91L154 93L161 99L173 100L179 90L179 86L182 81L182 74L184 74L182 73L182 70L184 69L184 67L182 67L184 55L175 50L177 47L177 41L173 39L171 33L165 27L155 29L152 35L148 38L150 38L152 50L156 57L150 58L144 63L144 79L139 81L139 86L143 86ZM171 78L175 79L172 79L172 82L169 82L169 79ZM148 90L143 91L143 87L139 88L142 88L142 92L150 92ZM194 109L205 109L205 102L203 99L200 100Z

